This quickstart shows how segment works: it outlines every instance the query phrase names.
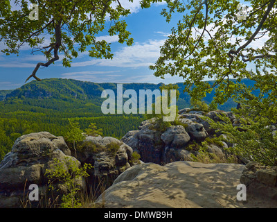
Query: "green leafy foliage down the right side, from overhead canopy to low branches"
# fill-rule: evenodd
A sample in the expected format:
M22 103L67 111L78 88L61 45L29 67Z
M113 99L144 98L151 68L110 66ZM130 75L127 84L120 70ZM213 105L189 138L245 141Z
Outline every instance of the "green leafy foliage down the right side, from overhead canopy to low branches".
M150 67L154 75L183 77L184 91L194 101L202 101L213 89L213 103L235 99L242 108L233 111L245 121L239 128L226 121L214 127L235 142L236 153L276 165L276 137L268 130L277 123L276 0L244 1L245 8L240 1L167 3L162 15L168 22L176 12L184 16ZM206 82L207 78L214 83ZM245 78L254 84L245 85Z

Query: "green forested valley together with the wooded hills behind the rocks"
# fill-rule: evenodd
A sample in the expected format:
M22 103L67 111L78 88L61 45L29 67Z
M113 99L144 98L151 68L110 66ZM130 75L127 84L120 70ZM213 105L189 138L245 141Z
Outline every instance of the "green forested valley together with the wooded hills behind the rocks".
M125 89L159 89L161 84L130 83ZM179 83L179 92L183 84ZM102 114L100 106L102 90L112 89L114 83L89 83L78 80L45 79L33 80L15 90L0 91L0 160L10 151L15 139L33 132L48 131L56 136L64 136L69 130L69 120L74 119L82 130L90 123L102 128L103 135L120 139L129 130L136 130L146 117L143 114ZM210 103L213 94L206 96ZM181 93L177 105L179 109L190 106L190 97ZM230 101L220 107L230 110L235 107Z

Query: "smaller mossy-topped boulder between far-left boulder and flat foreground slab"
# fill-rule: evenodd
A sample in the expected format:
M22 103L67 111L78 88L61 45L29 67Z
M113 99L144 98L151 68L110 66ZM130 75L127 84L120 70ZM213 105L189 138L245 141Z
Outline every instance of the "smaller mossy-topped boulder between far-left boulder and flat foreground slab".
M114 147L113 151L109 151L109 145ZM77 159L93 166L88 171L87 189L100 193L100 188L111 186L118 175L133 164L132 153L130 146L114 137L86 137L82 149L77 152Z

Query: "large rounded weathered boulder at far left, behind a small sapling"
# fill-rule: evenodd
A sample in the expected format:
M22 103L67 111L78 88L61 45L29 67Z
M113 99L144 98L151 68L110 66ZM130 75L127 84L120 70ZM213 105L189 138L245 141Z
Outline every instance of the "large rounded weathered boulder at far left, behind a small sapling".
M64 167L66 158L80 165L70 155L71 151L63 137L55 137L48 132L19 137L12 146L12 151L0 163L0 207L22 207L21 200L28 198L28 187L31 184L39 187L39 194L47 195L46 169L54 166L55 159L62 162ZM53 196L66 193L61 184L53 185L60 188L59 191L55 190ZM32 201L35 207L38 204L38 201Z

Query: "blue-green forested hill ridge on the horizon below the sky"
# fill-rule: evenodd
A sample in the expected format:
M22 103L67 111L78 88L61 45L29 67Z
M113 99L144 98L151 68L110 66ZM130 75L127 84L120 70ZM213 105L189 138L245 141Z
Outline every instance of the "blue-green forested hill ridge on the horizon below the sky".
M208 81L213 84L213 81ZM243 80L244 84L252 85L250 80ZM123 92L126 89L134 89L139 94L139 89L159 89L162 83L127 83L123 84ZM177 83L179 86L179 101L177 105L179 109L190 106L190 96L184 93L183 83ZM29 110L30 107L37 112L42 109L50 109L57 111L70 112L74 109L81 112L101 112L100 106L105 99L101 98L104 89L111 89L116 92L116 83L91 83L80 80L49 78L42 81L33 80L15 90L0 90L0 101L6 105L17 104L23 110ZM211 103L214 93L207 94L204 101ZM9 105L9 108L11 106ZM219 108L221 110L230 110L234 108L236 103L231 99ZM18 108L18 106L17 106Z

